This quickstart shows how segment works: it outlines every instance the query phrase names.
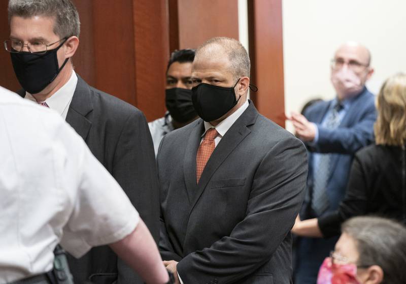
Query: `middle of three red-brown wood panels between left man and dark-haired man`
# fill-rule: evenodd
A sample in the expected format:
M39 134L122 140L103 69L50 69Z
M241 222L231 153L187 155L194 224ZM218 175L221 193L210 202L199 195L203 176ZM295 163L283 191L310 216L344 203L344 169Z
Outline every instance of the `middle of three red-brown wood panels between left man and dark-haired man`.
M95 86L137 105L132 0L93 4Z

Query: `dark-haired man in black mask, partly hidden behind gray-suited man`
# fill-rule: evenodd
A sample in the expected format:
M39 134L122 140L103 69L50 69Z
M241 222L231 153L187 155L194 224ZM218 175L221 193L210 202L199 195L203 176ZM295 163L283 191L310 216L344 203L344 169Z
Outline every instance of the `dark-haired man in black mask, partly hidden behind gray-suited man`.
M148 123L154 142L155 155L158 153L162 137L197 119L192 104L192 62L194 49L175 50L171 54L166 68L165 105L167 112L164 117Z

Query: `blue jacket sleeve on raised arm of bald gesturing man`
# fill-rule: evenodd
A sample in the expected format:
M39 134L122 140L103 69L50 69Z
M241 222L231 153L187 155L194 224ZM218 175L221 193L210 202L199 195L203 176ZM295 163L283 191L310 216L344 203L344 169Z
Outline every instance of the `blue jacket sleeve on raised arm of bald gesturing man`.
M361 119L351 127L329 129L316 124L319 137L316 146L310 148L320 153L354 154L374 142L375 120L376 109L370 101Z

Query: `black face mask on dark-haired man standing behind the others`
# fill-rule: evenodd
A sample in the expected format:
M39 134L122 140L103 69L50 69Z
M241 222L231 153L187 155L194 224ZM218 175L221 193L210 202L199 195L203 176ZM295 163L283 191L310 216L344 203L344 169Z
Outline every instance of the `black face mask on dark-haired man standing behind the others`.
M187 122L197 116L192 103L192 91L183 88L165 90L166 109L178 122Z

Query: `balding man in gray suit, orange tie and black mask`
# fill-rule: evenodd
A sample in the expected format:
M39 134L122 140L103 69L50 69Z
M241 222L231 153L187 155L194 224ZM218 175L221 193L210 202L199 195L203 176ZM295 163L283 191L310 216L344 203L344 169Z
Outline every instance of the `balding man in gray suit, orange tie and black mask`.
M238 41L201 45L192 66L201 119L168 133L158 151L159 249L184 284L291 281L289 231L304 197L307 153L247 100L249 76Z

